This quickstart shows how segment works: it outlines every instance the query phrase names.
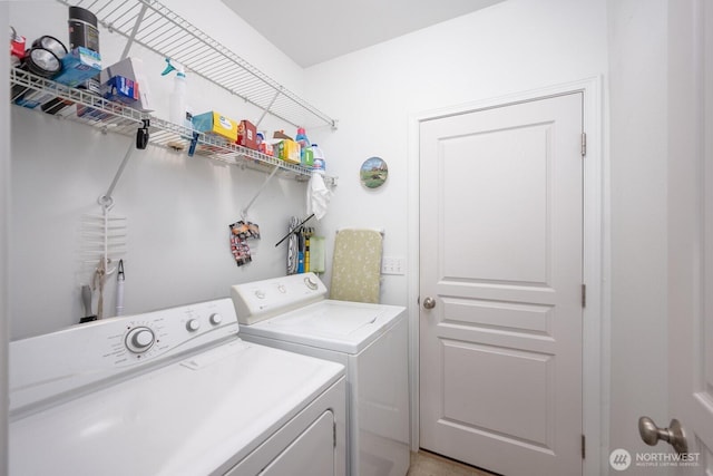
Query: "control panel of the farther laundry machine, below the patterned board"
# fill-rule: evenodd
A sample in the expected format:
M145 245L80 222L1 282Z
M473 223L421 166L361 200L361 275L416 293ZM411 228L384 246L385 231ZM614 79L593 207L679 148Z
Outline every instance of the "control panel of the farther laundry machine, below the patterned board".
M326 297L326 286L314 273L236 284L231 290L237 320L253 324Z

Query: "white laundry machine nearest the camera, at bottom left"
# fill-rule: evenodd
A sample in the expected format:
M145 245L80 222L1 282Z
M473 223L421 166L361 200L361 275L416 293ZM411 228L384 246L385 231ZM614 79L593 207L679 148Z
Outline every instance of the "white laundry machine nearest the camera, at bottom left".
M344 367L237 336L229 299L10 343L10 474L345 474Z

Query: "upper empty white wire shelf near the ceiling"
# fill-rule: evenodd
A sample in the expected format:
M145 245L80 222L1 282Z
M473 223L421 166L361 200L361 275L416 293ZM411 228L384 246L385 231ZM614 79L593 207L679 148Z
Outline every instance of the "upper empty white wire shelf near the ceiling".
M97 16L109 31L175 59L208 81L295 127L336 128L336 120L304 101L245 59L155 0L57 0Z

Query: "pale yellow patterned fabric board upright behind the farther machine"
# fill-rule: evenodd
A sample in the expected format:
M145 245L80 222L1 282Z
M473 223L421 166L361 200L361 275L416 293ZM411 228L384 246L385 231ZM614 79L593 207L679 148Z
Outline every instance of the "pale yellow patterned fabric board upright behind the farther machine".
M330 298L379 302L383 237L375 230L340 230L334 239Z

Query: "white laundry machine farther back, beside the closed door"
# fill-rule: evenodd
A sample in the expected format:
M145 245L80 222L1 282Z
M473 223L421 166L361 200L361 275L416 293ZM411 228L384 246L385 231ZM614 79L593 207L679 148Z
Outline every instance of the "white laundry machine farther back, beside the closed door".
M346 366L349 474L406 475L406 308L329 300L314 273L238 284L232 298L243 339Z

